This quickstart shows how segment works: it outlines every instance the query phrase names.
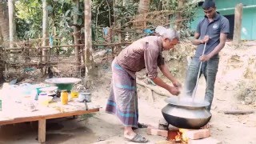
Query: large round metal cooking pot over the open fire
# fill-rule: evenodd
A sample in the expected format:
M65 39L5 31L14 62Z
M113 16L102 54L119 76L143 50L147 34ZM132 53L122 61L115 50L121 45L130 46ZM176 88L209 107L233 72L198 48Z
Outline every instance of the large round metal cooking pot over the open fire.
M166 98L168 104L162 108L166 122L178 128L199 129L210 121L211 114L206 110L209 102L192 102L178 97Z

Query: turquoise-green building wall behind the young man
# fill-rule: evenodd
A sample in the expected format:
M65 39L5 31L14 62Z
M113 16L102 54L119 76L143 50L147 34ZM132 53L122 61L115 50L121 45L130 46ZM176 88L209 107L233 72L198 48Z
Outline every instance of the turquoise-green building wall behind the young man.
M215 0L217 10L222 15L234 14L234 7L242 3L242 40L256 40L256 0ZM198 7L197 16L191 22L191 30L196 30L200 19L204 16L202 7Z

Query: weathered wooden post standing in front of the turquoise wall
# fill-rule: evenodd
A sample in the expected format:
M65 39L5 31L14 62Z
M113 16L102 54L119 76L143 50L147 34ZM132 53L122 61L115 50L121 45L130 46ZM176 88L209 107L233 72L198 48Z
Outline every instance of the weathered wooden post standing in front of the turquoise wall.
M238 45L241 42L241 28L242 28L242 3L235 6L234 10L234 45Z

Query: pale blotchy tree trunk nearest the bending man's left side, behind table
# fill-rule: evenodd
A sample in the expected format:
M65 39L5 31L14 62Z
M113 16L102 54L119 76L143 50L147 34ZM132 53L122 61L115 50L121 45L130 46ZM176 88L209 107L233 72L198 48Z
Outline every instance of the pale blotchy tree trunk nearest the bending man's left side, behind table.
M92 38L91 38L91 0L84 0L85 6L85 55L86 55L86 88L90 88L93 84L92 80L94 76L97 76L97 70L95 70L94 59L92 56Z

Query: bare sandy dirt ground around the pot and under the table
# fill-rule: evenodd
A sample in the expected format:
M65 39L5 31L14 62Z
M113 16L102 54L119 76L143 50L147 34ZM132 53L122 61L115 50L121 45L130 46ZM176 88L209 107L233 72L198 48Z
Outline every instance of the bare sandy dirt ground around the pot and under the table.
M256 45L247 43L238 48L227 43L221 52L218 77L215 83L210 134L222 143L256 144L256 113L244 115L224 114L225 110L255 110L256 98L250 104L238 99L238 82L250 82L256 79ZM92 102L102 106L100 111L87 118L61 118L47 121L46 143L131 143L122 138L122 124L114 115L105 113L106 100L110 89L110 69L102 71L101 78L95 82L97 89L92 91ZM184 75L179 78L184 82ZM200 78L196 98L202 99L206 89L204 78ZM162 118L161 109L166 106L166 97L154 95L154 102L149 102L143 86L138 86L139 122L158 125ZM256 111L255 111L256 112ZM37 122L26 122L1 126L0 143L37 143ZM155 143L166 140L160 136L146 134L146 129L136 130Z

